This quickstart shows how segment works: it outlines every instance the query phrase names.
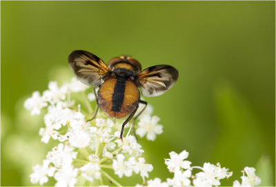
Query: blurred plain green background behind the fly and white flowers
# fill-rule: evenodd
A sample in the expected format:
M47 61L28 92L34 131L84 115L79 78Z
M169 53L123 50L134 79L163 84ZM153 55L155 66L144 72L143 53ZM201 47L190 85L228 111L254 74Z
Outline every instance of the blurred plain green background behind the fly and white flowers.
M1 186L33 185L32 165L51 147L23 100L69 81L73 50L179 70L170 91L146 98L164 125L155 142L139 140L151 179L172 177L164 158L185 149L194 166L233 170L224 186L244 166L275 185L275 1L1 1Z

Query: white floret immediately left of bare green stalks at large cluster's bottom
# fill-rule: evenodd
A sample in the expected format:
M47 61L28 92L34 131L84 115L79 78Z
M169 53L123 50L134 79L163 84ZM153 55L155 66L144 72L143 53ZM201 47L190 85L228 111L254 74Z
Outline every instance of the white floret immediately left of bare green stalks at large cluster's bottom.
M99 172L100 169L99 164L89 162L79 170L81 170L81 176L88 181L93 181L93 179L99 179L99 177L101 177L101 172Z

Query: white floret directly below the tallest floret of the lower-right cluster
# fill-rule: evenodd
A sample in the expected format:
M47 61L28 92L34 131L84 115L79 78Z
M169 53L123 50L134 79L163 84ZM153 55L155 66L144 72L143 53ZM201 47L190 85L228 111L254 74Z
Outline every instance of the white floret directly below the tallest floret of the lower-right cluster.
M190 186L190 176L192 172L190 170L181 170L175 171L175 175L172 179L167 179L167 184L169 186Z

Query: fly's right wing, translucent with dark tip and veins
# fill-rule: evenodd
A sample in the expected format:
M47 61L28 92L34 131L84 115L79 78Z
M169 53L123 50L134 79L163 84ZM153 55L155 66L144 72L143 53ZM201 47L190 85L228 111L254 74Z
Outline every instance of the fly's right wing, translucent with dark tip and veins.
M137 74L137 84L144 96L154 97L164 94L178 78L178 71L170 65L156 65Z

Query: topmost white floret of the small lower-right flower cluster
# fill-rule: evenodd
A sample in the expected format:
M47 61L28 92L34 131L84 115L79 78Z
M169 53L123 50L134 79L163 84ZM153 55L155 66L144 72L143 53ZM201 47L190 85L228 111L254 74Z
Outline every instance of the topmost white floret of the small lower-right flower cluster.
M165 164L168 166L170 172L175 172L180 168L188 169L190 168L190 161L184 160L188 157L189 153L187 151L182 151L177 154L175 151L169 153L170 159L165 159Z

